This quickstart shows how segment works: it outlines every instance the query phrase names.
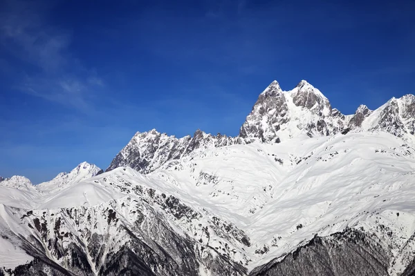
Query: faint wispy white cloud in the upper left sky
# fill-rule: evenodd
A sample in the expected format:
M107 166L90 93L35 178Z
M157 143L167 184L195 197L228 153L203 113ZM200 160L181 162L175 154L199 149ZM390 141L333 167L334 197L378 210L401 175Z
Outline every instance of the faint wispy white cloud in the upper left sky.
M46 23L47 5L18 0L6 1L5 6L0 42L12 57L34 68L26 70L14 88L73 108L89 108L93 91L104 81L71 55L71 32Z

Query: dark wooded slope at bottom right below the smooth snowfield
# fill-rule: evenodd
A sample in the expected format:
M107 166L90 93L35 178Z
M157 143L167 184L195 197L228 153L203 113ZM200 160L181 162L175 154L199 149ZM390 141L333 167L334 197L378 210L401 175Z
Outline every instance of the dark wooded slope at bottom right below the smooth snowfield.
M358 230L314 237L284 259L255 268L250 275L389 275L390 253Z

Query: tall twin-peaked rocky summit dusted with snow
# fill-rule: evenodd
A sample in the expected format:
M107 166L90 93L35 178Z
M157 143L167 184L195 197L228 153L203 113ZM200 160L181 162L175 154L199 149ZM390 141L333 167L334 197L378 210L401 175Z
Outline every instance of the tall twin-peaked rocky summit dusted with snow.
M302 134L332 135L343 128L343 119L333 119L331 113L329 100L307 81L286 92L275 82L259 95L239 136L248 142L278 143Z

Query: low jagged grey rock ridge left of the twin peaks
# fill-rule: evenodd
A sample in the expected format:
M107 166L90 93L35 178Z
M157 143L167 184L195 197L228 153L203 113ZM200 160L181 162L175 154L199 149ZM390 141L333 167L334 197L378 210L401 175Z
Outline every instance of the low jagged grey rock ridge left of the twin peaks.
M160 168L167 161L180 159L194 150L216 148L232 144L244 144L240 137L228 137L218 134L212 136L196 130L193 137L176 138L157 130L137 132L118 155L113 159L107 171L119 166L129 166L142 173Z

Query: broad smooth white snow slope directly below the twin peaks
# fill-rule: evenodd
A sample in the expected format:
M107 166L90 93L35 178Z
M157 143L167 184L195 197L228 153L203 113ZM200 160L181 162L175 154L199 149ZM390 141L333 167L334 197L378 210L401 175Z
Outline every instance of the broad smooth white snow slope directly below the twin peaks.
M202 197L243 229L252 243L250 266L346 226L379 234L382 224L394 233L382 239L398 255L415 230L415 150L404 143L359 132L237 145L171 162L148 177L171 182L180 198Z

